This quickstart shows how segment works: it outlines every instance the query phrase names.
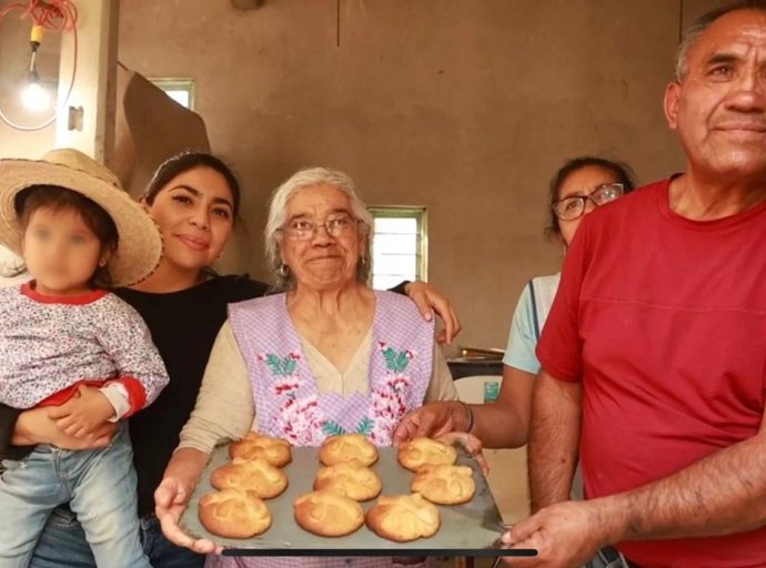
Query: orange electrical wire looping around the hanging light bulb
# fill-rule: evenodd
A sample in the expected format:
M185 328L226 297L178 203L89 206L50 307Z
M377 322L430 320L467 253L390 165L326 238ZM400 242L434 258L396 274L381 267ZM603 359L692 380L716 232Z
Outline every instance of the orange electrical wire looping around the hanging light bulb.
M29 18L32 20L34 26L40 26L41 28L50 31L69 31L72 32L72 75L69 81L69 88L67 89L67 95L63 98L60 106L56 108L53 115L41 124L34 126L24 126L22 124L17 124L11 121L6 113L0 109L0 120L14 130L20 130L23 132L34 132L50 126L56 119L59 116L61 109L67 106L69 97L72 94L72 89L74 87L74 78L77 77L77 59L78 59L78 38L77 38L77 20L78 11L77 7L71 0L29 0L27 4L21 2L13 2L2 10L0 10L0 23L8 16L11 10L23 10L23 13L19 18L23 20Z

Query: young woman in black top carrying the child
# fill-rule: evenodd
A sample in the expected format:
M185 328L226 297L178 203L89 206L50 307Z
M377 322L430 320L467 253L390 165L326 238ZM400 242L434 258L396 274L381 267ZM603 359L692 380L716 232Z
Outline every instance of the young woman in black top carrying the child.
M170 384L155 403L130 419L142 541L155 568L200 567L203 556L174 546L162 535L154 516L153 493L194 407L228 304L261 296L268 286L246 276L219 276L209 268L221 255L240 211L239 183L216 158L203 153L171 158L159 168L142 203L160 227L164 254L151 277L115 293L147 322L170 376ZM460 324L448 302L422 283L406 288L423 314L430 315L433 305L442 315L451 339ZM62 439L44 412L28 410L16 419L17 414L0 409L0 454L3 439L10 438L9 430L13 433L10 442L16 445L82 444ZM104 432L94 434L93 443L102 443L103 436ZM74 515L59 508L42 534L31 566L62 565L92 567L94 561Z

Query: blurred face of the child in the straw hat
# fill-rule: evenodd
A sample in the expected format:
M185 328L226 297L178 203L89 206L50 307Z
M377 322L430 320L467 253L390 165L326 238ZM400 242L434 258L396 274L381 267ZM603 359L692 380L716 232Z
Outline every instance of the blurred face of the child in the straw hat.
M101 242L72 210L41 207L32 213L23 235L22 255L41 294L71 296L90 290L99 264L105 264Z

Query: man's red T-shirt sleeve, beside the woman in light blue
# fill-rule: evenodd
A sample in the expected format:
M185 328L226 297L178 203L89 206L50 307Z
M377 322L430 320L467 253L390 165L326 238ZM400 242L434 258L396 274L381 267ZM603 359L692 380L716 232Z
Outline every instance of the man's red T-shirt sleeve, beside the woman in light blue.
M545 372L560 381L582 381L583 342L579 293L587 268L588 227L584 219L566 252L562 278L535 354Z

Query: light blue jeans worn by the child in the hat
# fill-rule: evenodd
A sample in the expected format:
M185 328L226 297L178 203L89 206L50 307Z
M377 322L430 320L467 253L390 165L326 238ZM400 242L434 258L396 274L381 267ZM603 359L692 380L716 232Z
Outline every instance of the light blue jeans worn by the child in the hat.
M22 460L3 465L0 568L29 565L51 511L64 503L82 524L99 566L150 568L139 540L127 424L105 448L72 452L41 444Z

